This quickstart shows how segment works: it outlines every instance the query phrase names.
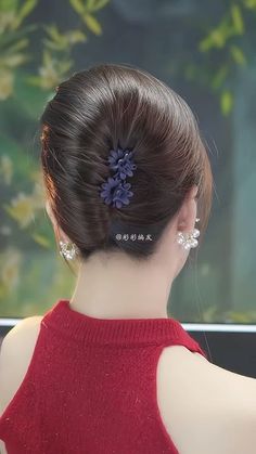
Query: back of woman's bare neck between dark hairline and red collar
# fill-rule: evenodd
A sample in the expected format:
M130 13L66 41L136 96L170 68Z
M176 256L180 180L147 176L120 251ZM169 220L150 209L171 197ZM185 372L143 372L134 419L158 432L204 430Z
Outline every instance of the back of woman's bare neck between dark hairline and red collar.
M167 275L168 274L168 275ZM80 263L72 309L98 319L168 317L170 273L156 260L93 255Z

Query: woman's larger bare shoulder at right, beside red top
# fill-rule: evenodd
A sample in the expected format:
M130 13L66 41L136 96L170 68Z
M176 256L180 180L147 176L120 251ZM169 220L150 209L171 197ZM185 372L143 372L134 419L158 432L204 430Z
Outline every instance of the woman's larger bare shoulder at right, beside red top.
M157 365L157 403L180 454L256 453L256 379L185 347L166 347Z

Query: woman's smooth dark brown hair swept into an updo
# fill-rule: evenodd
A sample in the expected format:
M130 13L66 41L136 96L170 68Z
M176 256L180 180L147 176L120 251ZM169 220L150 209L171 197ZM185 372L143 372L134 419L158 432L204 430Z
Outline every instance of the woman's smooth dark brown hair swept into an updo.
M59 85L40 124L47 197L81 259L120 249L132 258L150 257L194 184L205 230L213 176L196 120L188 104L151 74L117 64L75 73ZM132 150L137 165L133 196L119 209L99 195L111 176L110 151L118 146ZM120 241L124 234L128 239ZM131 234L152 241L130 239Z

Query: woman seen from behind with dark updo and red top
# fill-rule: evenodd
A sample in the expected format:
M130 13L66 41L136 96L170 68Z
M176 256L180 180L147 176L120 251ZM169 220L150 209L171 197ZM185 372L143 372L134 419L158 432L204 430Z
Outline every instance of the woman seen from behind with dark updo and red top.
M149 73L103 64L63 81L41 125L47 211L79 273L71 300L4 338L7 451L256 452L256 381L212 364L167 314L210 210L191 109Z

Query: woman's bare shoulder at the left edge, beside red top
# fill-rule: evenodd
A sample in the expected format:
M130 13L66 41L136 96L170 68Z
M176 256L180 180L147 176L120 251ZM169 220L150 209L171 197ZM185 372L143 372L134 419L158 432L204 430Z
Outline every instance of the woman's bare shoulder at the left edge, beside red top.
M3 338L0 350L0 415L26 375L41 320L40 315L23 319Z

